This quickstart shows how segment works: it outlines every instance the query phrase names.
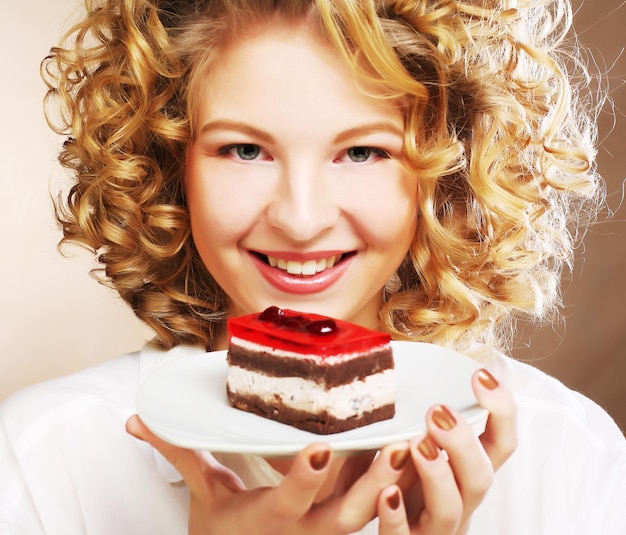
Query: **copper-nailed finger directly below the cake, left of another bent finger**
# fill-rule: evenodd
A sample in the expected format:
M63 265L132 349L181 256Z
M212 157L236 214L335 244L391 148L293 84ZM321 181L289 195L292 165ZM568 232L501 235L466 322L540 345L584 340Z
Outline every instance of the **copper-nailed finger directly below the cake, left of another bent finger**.
M280 485L261 499L260 509L268 521L290 522L311 509L328 476L331 457L330 447L322 443L311 444L296 456Z

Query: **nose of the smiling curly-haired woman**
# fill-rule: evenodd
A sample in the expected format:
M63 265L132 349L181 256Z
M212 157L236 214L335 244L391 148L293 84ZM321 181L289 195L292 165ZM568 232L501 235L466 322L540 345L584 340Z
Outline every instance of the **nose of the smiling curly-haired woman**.
M267 210L271 227L291 240L311 241L333 227L340 214L329 177L315 165L289 165L281 171Z

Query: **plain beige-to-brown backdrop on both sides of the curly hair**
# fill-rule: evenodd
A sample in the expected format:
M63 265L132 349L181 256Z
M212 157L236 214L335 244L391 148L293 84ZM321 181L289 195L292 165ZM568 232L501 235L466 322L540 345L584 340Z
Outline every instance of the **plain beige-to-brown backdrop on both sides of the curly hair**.
M32 382L70 373L139 348L150 333L110 290L88 275L92 260L63 258L50 194L65 177L55 162L60 140L43 117L38 65L78 0L5 2L0 17L0 399ZM580 0L575 0L579 6ZM626 6L587 0L576 15L580 40L609 71L615 113L600 117L599 168L610 221L595 226L565 287L565 323L525 326L513 354L603 405L626 429ZM36 14L36 15L34 15ZM532 335L532 336L531 336Z

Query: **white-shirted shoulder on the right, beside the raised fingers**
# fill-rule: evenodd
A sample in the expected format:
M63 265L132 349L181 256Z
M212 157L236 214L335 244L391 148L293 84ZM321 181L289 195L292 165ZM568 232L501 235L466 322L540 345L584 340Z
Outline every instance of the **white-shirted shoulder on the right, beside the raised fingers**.
M533 366L495 353L484 366L518 408L519 445L496 475L491 513L549 533L623 533L626 439L613 419Z

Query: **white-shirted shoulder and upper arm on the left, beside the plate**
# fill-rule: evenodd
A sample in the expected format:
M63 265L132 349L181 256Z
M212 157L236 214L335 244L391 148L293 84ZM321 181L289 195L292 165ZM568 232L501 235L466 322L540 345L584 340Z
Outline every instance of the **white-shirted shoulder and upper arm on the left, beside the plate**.
M142 372L175 354L144 349L0 404L0 532L181 531L184 493L161 477L152 448L125 431Z

